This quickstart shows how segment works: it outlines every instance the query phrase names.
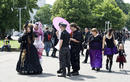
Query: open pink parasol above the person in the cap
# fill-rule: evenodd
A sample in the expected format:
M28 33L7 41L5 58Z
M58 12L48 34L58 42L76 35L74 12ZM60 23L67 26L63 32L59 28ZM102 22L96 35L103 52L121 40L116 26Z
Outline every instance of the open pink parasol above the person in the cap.
M56 28L56 30L60 31L60 27L59 27L59 23L65 23L67 24L66 30L71 33L71 29L70 29L70 24L68 21L66 21L65 19L61 18L61 17L55 17L53 19L53 25Z

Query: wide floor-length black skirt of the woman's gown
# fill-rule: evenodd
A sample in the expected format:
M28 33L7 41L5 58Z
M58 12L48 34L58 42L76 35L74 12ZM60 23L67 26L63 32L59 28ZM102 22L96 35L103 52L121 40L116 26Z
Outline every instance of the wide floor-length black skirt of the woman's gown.
M20 74L42 73L42 67L39 61L37 49L33 44L21 50L16 71Z

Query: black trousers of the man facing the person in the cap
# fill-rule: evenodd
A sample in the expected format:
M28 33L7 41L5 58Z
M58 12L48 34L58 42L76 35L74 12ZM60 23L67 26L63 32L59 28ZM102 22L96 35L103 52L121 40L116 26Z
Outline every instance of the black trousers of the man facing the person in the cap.
M80 70L80 50L81 48L79 46L71 46L71 65L74 72Z

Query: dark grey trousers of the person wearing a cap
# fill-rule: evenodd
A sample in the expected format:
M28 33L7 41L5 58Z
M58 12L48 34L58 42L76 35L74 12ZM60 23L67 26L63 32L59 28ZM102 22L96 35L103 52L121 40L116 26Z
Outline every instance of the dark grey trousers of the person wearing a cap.
M70 49L69 47L61 48L59 52L60 69L63 70L63 75L66 74L66 67L70 70Z

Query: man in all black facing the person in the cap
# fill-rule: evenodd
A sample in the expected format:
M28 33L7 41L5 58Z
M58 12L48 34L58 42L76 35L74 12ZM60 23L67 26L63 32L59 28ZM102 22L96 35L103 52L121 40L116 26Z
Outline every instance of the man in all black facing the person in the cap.
M70 54L71 54L71 65L73 71L71 72L72 75L79 75L80 70L80 50L82 47L83 36L80 32L76 23L70 24L70 29L72 30L72 37L70 38Z

